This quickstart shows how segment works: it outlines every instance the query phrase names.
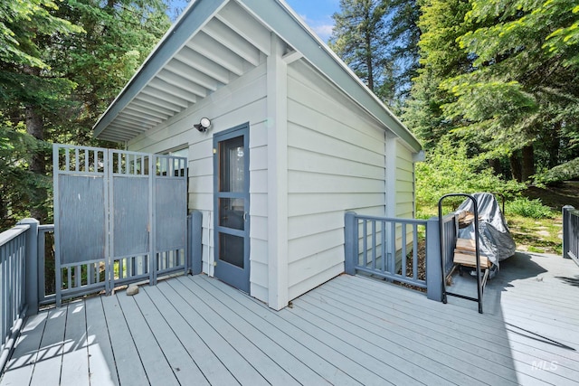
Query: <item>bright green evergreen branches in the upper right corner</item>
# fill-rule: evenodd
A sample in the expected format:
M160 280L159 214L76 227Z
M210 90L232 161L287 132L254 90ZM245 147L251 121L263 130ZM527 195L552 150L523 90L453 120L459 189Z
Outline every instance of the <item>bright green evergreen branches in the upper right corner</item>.
M445 116L489 139L479 141L486 149L511 155L513 176L527 181L536 149L552 155L546 164L554 166L561 141L577 133L579 7L570 0L470 4L465 20L472 28L458 42L475 61L471 71L441 82L456 98L444 106Z

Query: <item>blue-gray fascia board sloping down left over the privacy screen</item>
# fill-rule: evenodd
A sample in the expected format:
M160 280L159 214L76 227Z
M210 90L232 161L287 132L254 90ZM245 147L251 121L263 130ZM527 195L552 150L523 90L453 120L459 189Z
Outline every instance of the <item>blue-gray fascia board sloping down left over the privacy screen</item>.
M138 93L144 89L148 82L152 80L158 71L161 71L165 64L171 60L192 36L195 35L204 24L217 14L228 0L194 0L185 9L181 17L166 32L165 36L158 42L157 47L148 55L138 71L128 81L122 91L109 108L102 114L97 123L92 127L94 137L98 137L109 124L117 118L119 113L127 107Z

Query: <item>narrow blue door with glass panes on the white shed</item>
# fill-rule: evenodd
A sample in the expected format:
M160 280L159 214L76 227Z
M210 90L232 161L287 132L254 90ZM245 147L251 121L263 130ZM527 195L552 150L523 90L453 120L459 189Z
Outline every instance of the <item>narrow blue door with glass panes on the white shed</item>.
M214 135L215 277L250 292L249 124Z

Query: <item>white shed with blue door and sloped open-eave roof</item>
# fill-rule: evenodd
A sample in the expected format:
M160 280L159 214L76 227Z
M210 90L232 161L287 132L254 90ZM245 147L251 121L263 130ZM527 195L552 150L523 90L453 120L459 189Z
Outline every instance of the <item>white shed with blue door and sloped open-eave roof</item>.
M94 130L186 155L204 272L275 309L344 271L345 212L414 215L419 142L282 0L193 0Z

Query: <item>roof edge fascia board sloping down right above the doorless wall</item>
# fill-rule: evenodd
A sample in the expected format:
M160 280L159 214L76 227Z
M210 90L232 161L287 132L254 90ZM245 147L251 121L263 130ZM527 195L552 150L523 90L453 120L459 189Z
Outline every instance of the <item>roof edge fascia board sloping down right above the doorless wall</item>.
M239 3L271 31L277 33L282 40L301 52L305 60L325 74L339 89L356 100L362 108L392 130L414 151L422 150L420 142L410 130L356 77L336 53L319 39L285 1L239 0Z

